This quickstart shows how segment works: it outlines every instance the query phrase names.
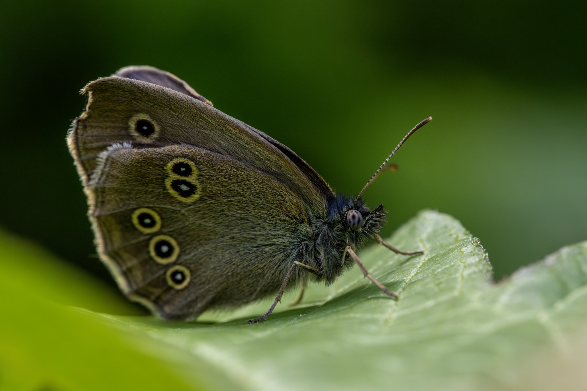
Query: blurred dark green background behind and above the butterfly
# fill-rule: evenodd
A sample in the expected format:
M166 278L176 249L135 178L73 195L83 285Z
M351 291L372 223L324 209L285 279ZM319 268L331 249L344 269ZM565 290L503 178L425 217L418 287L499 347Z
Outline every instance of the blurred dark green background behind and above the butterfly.
M148 64L341 192L460 219L495 278L587 239L587 4L19 1L0 11L0 225L114 284L65 144L88 81Z

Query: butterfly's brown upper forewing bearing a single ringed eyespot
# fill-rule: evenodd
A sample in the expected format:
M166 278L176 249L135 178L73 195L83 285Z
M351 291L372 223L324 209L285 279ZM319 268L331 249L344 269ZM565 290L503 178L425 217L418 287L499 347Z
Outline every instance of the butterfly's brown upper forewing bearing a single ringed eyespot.
M292 189L309 213L324 213L325 201L332 198L326 182L290 149L198 98L123 77L98 79L83 92L88 104L69 136L83 179L114 142L131 142L136 148L185 143L271 175ZM150 121L153 131L140 134L137 121Z

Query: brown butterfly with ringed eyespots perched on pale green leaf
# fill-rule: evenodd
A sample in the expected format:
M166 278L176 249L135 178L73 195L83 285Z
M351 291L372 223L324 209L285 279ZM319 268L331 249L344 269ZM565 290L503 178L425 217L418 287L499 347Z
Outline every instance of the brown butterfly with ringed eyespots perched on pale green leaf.
M130 300L166 319L197 319L359 265L386 212L337 195L294 151L215 109L185 81L130 66L87 84L68 146L97 251ZM303 295L303 290L302 290ZM300 295L299 300L301 300ZM298 301L299 301L298 300Z

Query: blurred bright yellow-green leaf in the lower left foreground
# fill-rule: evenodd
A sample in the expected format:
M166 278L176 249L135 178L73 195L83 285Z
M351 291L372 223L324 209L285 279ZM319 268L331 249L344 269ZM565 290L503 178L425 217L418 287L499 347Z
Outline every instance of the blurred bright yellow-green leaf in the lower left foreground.
M0 230L0 390L201 389L178 378L167 346L113 329L93 310L140 313L109 287ZM153 351L137 348L149 345ZM194 380L196 379L196 380Z

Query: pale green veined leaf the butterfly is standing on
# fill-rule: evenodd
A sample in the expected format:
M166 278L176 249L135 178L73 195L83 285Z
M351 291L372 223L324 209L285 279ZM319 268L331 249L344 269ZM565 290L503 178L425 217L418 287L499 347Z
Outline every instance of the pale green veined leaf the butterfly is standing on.
M244 389L474 389L514 381L512 366L544 346L564 355L566 335L585 324L587 244L566 247L542 263L494 284L480 241L453 217L424 211L382 246L360 255L368 270L399 295L386 297L358 268L330 287L315 285L305 307L260 324L271 300L237 313L209 314L214 325L127 318L157 341L223 370ZM508 378L509 376L509 378Z

